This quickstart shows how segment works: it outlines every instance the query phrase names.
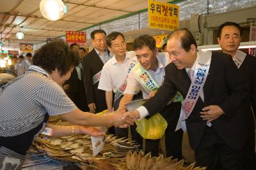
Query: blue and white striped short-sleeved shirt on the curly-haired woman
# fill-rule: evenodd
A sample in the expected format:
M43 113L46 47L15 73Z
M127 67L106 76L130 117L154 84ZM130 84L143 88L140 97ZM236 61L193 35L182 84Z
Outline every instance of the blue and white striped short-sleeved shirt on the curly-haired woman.
M76 105L41 67L4 85L0 94L0 136L16 136L35 128L44 115L74 111Z

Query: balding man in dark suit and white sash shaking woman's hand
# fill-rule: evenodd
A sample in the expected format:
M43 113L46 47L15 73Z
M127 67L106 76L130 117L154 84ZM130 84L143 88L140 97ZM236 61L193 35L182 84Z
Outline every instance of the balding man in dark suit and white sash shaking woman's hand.
M165 69L163 85L147 103L126 114L131 118L154 115L178 90L186 96L180 122L186 122L189 144L195 150L196 166L243 169L242 148L247 137L243 101L248 85L230 55L198 53L196 48L195 38L188 29L173 31L167 43L172 63ZM195 69L191 79L189 69Z

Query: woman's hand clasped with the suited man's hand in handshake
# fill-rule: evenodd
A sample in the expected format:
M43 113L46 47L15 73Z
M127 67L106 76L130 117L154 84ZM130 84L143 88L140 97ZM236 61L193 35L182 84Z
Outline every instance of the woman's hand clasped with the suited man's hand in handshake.
M133 125L133 120L130 117L127 117L127 115L124 115L124 111L115 111L113 112L113 125L115 127L128 127L130 125Z

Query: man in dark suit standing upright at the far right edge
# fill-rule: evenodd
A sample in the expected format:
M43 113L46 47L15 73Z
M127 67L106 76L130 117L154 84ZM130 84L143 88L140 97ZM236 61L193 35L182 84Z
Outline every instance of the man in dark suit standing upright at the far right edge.
M246 98L245 117L248 126L248 139L244 145L244 165L246 169L256 169L255 159L255 125L253 112L256 113L256 59L237 48L240 45L243 28L235 22L225 22L218 28L218 43L223 53L232 56L239 72L247 79L250 93ZM252 111L253 110L253 111Z

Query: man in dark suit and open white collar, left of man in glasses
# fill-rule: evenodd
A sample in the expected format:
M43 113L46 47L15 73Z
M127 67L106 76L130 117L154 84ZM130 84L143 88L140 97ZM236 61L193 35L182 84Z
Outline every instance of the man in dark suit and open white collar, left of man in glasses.
M91 113L99 113L107 109L105 91L99 90L100 72L109 60L109 51L106 46L106 32L102 29L91 33L93 50L83 59L83 80L86 89L86 98Z

